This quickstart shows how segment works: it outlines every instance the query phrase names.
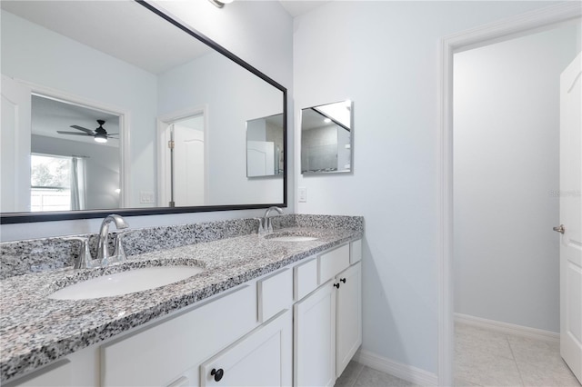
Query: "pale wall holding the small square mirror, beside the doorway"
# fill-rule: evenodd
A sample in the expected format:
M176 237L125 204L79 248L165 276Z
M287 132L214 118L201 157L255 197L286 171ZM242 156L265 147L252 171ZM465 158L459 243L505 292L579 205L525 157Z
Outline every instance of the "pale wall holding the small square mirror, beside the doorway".
M296 18L296 122L354 101L354 173L297 176L296 208L365 217L365 350L437 372L439 39L544 5L342 1Z

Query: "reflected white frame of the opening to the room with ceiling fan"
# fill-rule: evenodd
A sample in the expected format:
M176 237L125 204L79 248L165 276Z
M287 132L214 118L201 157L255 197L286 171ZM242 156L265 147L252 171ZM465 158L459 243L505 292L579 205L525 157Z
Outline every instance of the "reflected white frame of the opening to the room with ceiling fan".
M45 98L52 98L56 101L65 104L75 104L77 106L86 107L87 109L103 112L106 114L113 114L119 116L119 204L121 208L130 208L130 194L131 190L131 161L126 160L130 157L129 146L129 129L131 122L131 114L128 109L112 104L104 104L100 101L95 101L81 95L68 93L63 90L55 89L53 87L45 86L43 84L35 84L34 82L25 81L18 78L12 78L15 82L23 84L31 90L32 94L38 94Z

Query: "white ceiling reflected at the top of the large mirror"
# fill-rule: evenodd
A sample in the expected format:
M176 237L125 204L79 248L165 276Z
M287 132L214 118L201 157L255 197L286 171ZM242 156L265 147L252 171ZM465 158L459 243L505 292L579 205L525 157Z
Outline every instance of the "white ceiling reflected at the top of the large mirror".
M151 74L163 73L211 51L134 1L2 0L0 6L3 11ZM147 45L136 45L136 42L147 42Z

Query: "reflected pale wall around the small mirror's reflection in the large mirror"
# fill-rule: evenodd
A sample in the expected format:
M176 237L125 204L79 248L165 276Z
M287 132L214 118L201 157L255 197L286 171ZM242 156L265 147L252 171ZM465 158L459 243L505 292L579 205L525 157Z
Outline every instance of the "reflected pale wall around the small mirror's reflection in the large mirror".
M281 178L246 177L246 121L283 113L282 97L279 89L218 53L158 76L158 114L207 108L206 205L283 202Z

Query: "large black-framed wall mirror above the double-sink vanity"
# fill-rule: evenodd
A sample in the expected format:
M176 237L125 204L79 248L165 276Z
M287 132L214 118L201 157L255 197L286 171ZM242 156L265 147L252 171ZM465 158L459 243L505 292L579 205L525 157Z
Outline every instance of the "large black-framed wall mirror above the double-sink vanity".
M143 1L1 7L2 223L286 206L285 87Z

